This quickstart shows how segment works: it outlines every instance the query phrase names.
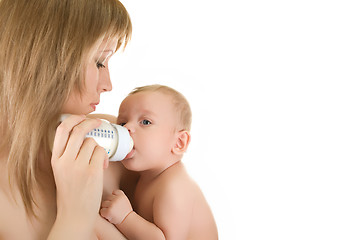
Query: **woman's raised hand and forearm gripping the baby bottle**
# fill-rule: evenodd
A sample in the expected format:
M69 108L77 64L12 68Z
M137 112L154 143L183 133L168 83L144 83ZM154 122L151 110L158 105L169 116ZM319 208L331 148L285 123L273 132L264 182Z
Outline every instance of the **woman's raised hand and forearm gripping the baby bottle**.
M86 239L81 232L90 234L98 216L108 155L95 140L85 136L100 124L98 119L72 115L56 130L51 165L58 211L52 232L57 228L68 231L70 238L66 239Z

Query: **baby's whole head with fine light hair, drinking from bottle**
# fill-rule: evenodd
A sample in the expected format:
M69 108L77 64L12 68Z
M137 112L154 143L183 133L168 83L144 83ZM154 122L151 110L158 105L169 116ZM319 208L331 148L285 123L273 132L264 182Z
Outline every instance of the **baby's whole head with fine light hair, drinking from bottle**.
M192 112L186 98L173 88L135 88L121 103L117 123L134 140L134 155L122 162L135 171L159 168L181 159L190 142Z

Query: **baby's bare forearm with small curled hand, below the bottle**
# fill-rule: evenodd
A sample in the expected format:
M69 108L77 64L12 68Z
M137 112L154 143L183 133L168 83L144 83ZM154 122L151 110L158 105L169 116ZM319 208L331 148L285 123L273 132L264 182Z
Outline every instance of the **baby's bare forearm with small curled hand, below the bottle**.
M160 228L132 210L130 201L121 190L114 191L112 197L102 203L100 213L128 239L166 239Z

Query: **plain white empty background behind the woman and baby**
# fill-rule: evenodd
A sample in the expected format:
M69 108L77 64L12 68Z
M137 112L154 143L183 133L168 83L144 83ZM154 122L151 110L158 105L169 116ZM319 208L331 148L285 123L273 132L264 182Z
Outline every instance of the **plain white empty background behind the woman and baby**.
M122 2L132 41L96 112L146 84L187 97L220 239L359 239L357 1Z

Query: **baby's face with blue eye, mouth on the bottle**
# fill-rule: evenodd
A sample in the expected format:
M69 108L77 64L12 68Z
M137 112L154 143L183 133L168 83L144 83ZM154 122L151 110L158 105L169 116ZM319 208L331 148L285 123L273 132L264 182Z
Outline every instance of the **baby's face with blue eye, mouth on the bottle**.
M171 156L178 126L171 96L152 91L130 95L121 103L117 123L134 141L133 154L122 161L126 168L155 170Z

